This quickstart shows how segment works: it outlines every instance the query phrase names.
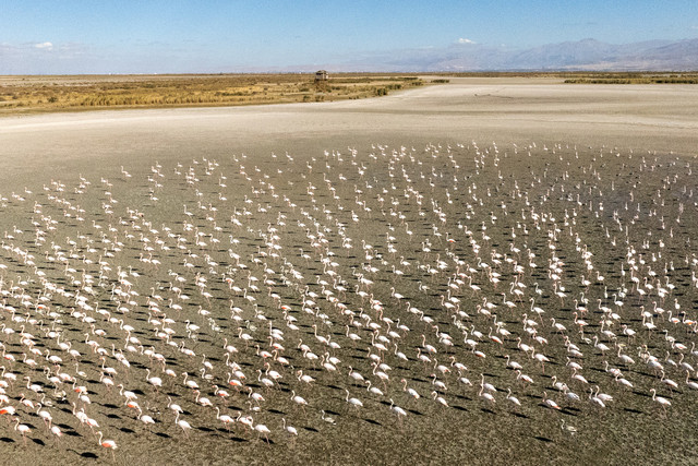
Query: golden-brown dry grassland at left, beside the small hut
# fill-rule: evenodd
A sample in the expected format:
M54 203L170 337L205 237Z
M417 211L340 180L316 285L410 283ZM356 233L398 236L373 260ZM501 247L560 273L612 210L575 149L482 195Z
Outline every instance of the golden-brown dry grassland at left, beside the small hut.
M311 74L0 76L0 115L104 108L237 106L386 95L417 76Z

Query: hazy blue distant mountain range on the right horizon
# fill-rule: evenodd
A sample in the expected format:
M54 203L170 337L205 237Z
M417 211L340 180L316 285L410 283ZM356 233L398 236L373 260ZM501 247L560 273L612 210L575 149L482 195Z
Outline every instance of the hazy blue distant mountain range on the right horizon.
M302 67L311 70L313 67ZM316 65L315 65L316 68ZM329 71L695 71L698 39L613 45L595 39L529 49L473 43L375 53L324 65Z

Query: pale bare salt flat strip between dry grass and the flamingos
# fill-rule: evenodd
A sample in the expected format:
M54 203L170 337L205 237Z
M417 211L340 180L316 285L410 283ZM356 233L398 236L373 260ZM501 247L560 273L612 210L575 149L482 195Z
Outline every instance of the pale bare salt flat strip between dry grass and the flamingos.
M200 151L302 153L361 142L494 140L604 141L690 155L697 126L698 94L688 85L452 79L448 85L365 100L4 118L0 156L10 176L3 182L19 189L23 178L16 175L25 168L36 176L69 176L86 159L101 167L145 163L144 151L167 159Z

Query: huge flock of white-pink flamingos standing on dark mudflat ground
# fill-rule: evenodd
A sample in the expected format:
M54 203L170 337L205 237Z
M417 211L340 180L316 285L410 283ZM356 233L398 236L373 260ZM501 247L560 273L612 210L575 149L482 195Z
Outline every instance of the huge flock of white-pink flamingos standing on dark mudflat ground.
M293 447L349 417L664 418L698 390L691 179L667 154L472 142L29 187L0 207L1 432L119 455Z

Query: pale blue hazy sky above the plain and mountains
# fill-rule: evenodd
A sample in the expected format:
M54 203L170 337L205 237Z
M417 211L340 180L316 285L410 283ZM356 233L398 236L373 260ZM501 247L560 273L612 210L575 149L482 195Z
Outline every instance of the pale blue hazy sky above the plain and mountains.
M0 74L276 71L454 44L697 37L695 0L0 0Z

